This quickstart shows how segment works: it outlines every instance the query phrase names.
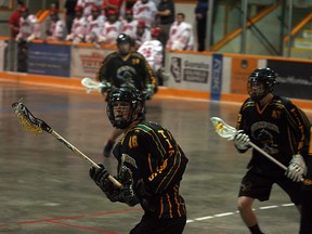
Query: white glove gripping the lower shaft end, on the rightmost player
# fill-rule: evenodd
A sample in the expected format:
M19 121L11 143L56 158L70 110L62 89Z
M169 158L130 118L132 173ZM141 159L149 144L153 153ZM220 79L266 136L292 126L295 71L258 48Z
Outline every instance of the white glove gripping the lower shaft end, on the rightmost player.
M301 155L294 155L285 176L294 182L300 182L302 177L307 174L307 166Z

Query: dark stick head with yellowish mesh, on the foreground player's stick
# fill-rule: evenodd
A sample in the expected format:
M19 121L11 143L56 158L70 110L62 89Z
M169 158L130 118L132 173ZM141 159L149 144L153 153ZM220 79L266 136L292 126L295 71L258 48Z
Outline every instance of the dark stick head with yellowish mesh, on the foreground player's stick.
M42 131L50 132L51 128L41 119L36 118L30 110L21 102L12 104L20 125L26 130L39 134Z

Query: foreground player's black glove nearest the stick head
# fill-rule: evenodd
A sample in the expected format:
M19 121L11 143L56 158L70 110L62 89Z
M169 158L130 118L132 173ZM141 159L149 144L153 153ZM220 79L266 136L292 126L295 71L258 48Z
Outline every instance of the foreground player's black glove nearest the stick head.
M108 171L102 164L99 164L100 168L91 167L89 170L90 178L95 182L95 184L103 191L106 197L115 203L120 202L120 188L116 187L110 180L108 180Z

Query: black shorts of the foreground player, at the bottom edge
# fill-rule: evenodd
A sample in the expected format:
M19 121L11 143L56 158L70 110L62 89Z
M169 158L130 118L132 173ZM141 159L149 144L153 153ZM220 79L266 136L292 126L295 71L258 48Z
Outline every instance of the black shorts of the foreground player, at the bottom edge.
M185 223L186 217L157 219L145 213L130 234L182 234Z

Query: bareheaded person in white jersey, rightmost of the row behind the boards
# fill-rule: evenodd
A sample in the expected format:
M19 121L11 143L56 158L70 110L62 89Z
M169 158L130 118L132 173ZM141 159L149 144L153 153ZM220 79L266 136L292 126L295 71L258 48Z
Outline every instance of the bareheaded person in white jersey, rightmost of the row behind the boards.
M178 13L176 22L170 27L169 39L166 49L174 50L193 50L194 35L192 25L184 22L185 15Z

